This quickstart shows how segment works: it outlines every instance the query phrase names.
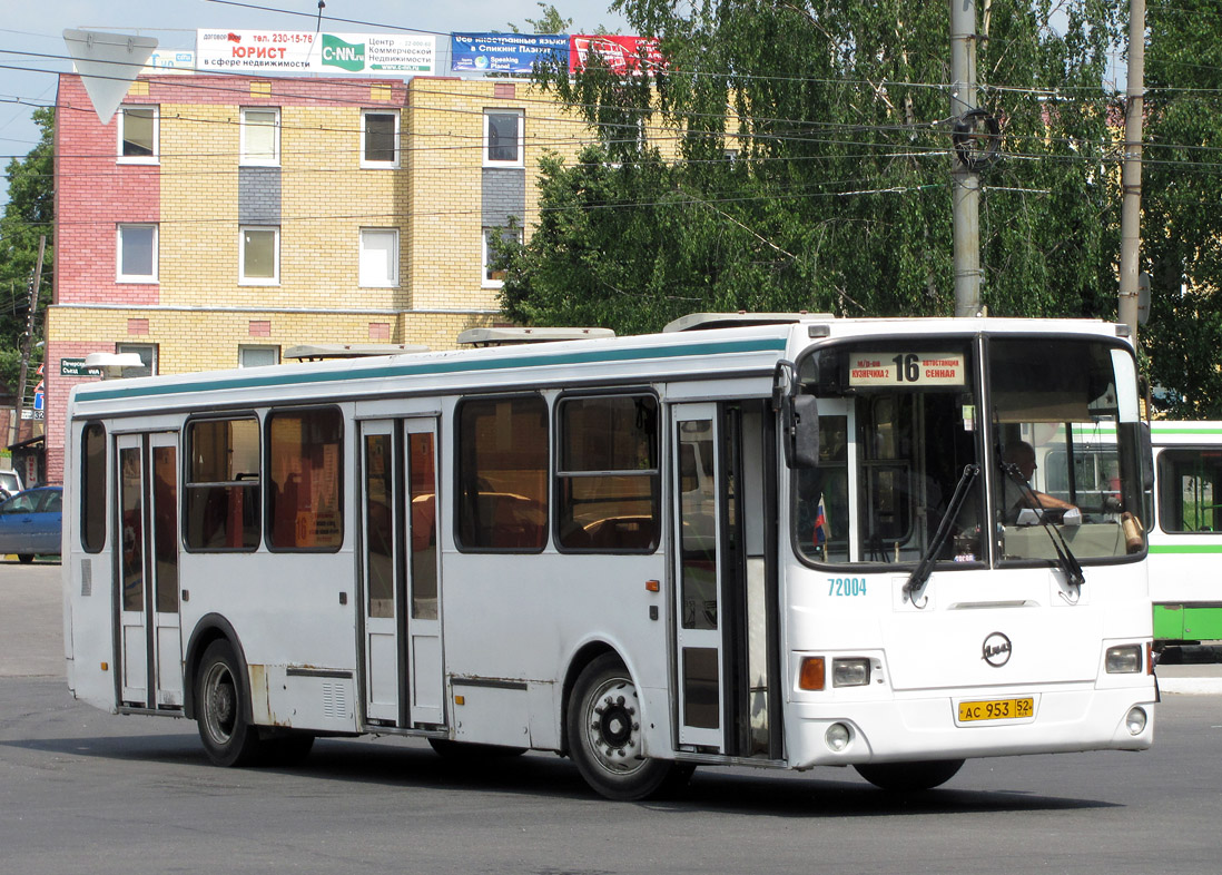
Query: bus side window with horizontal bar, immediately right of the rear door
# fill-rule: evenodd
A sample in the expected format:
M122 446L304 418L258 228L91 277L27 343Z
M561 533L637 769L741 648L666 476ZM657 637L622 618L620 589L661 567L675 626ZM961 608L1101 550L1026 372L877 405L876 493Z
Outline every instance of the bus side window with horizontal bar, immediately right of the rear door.
M197 419L187 425L183 528L191 550L259 546L259 420Z

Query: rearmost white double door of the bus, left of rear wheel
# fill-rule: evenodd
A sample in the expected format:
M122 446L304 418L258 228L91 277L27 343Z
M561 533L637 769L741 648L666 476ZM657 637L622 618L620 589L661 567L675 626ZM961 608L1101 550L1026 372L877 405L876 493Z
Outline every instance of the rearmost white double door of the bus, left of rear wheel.
M178 439L172 433L122 435L115 450L119 699L127 708L176 710L183 701Z

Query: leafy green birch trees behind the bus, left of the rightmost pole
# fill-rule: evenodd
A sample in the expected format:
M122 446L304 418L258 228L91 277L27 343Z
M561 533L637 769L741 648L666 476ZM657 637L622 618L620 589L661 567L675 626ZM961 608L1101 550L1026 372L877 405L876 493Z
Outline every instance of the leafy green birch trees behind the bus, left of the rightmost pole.
M539 227L503 247L506 314L623 331L699 309L953 312L945 5L617 9L661 39L667 70L536 73L602 144L543 164ZM982 104L1003 131L980 209L995 314L1116 310L1102 76L1117 9L1059 9L1062 34L1046 0L993 4L980 42Z

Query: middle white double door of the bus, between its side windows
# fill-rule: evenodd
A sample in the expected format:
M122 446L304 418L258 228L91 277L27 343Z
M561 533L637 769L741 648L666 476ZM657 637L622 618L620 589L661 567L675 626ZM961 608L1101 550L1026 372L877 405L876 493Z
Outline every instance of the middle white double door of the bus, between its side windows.
M365 716L440 726L436 420L360 424Z

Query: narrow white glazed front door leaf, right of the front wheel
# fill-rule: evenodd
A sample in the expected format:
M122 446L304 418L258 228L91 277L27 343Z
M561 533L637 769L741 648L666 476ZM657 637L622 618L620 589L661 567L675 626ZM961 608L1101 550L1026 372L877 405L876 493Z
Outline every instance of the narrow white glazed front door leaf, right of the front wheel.
M723 753L717 407L676 405L672 411L679 744Z

